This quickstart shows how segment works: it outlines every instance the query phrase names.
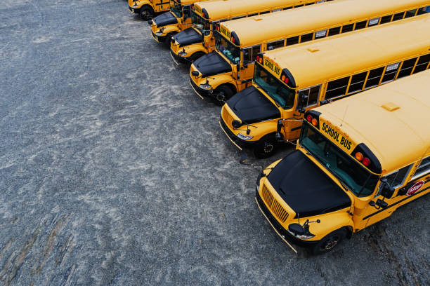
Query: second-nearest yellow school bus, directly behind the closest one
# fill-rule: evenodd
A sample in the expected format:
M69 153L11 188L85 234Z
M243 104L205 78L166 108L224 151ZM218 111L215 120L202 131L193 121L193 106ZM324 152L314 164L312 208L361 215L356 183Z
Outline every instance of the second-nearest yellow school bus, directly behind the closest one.
M252 86L230 98L220 125L233 144L271 156L299 137L308 109L429 69L430 14L256 57Z

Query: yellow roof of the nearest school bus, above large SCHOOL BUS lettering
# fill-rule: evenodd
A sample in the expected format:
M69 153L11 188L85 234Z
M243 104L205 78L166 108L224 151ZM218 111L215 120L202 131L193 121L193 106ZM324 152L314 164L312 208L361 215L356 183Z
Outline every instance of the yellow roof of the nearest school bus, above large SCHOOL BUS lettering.
M389 174L430 154L429 90L427 70L313 110L366 144Z

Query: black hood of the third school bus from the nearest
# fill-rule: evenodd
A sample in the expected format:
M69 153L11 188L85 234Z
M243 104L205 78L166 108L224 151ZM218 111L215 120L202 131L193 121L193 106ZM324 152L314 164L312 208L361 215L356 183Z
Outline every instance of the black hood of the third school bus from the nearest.
M202 77L231 71L230 64L215 51L199 57L195 60L194 66L200 71Z

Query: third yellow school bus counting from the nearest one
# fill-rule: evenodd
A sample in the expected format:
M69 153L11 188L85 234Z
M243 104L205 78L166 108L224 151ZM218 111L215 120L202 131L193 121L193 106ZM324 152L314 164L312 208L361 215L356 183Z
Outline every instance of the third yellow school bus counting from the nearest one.
M191 65L190 83L197 95L221 104L251 85L261 52L411 18L429 12L428 6L423 0L337 0L223 22L216 52Z

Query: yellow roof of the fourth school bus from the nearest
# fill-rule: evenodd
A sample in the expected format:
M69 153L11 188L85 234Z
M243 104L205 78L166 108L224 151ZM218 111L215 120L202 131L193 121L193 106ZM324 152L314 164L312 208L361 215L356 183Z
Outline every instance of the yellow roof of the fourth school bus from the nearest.
M314 0L212 0L203 3L196 2L195 6L206 9L209 18L207 18L207 16L205 18L214 21L313 1Z

